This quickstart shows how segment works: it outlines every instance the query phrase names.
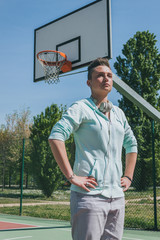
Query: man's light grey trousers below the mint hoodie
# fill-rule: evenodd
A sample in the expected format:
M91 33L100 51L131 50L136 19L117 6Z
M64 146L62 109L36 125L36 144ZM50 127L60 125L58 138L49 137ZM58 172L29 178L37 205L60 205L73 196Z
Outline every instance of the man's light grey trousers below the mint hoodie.
M73 240L121 240L125 200L71 192Z

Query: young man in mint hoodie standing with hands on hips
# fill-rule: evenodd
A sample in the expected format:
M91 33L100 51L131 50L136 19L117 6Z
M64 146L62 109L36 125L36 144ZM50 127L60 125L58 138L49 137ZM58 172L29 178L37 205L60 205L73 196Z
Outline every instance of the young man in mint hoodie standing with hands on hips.
M88 67L91 97L74 103L53 127L49 142L53 155L71 182L73 240L120 240L124 225L124 191L133 178L137 142L121 109L108 101L112 71L107 59ZM72 170L65 140L74 134ZM125 173L121 152L126 150ZM123 177L122 177L123 175Z

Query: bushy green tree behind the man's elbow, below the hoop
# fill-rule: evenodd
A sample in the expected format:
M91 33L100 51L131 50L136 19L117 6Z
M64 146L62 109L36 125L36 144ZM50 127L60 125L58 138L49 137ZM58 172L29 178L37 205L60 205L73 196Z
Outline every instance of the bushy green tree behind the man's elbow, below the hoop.
M58 108L56 104L45 109L45 112L34 117L31 128L33 144L32 162L37 185L44 195L50 197L52 192L62 185L63 175L51 152L48 137L52 127L61 118L65 107ZM73 137L66 142L69 159L73 157ZM72 150L71 150L72 149Z

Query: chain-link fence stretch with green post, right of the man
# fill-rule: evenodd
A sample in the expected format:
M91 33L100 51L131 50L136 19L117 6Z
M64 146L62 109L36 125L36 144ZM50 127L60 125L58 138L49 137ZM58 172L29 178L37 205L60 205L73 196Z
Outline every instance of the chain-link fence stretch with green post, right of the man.
M146 122L150 128L142 128L141 134L134 132L138 158L131 188L125 194L125 227L160 230L160 142L155 133L158 124L154 126L149 118ZM125 167L124 159L123 154Z

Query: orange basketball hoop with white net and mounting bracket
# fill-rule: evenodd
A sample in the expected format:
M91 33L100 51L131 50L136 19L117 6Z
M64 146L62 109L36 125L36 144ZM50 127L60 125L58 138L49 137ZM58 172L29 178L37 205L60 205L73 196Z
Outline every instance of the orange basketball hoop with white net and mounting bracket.
M72 63L67 60L65 53L45 50L37 54L37 59L43 67L45 82L58 83L60 72L68 72L72 69Z

